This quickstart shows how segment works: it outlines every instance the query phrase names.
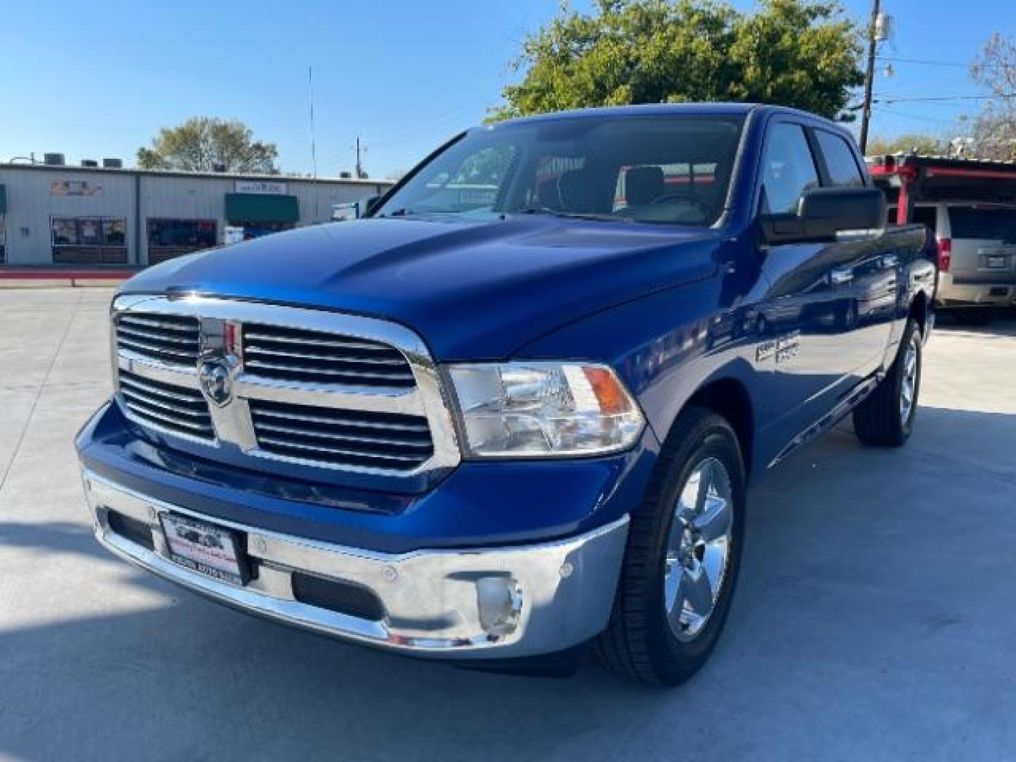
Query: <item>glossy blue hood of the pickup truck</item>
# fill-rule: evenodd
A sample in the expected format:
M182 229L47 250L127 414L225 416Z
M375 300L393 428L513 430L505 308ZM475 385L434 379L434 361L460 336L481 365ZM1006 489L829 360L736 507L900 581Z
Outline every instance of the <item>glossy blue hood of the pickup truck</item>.
M708 275L717 241L710 230L544 215L364 219L171 260L121 293L359 313L415 329L438 360L500 359L586 315Z

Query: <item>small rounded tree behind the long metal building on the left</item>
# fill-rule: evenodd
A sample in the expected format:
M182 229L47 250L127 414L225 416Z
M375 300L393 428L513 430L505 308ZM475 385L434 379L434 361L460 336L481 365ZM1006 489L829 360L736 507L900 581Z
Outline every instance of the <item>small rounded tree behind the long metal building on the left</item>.
M150 148L138 148L142 170L190 172L260 172L275 174L278 149L254 140L250 127L237 120L191 117L178 127L164 127Z

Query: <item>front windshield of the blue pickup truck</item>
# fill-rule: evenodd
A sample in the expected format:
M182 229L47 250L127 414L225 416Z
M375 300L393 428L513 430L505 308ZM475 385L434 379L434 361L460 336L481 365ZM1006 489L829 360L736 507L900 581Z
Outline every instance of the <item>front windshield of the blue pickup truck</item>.
M583 117L466 133L375 216L530 213L712 225L743 117Z

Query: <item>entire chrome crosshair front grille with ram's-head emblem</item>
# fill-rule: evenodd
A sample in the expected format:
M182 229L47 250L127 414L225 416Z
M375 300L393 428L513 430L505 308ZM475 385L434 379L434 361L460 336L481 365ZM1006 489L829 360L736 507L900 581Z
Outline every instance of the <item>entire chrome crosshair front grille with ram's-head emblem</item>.
M150 295L118 297L113 320L121 408L207 457L398 478L459 462L438 369L404 326Z

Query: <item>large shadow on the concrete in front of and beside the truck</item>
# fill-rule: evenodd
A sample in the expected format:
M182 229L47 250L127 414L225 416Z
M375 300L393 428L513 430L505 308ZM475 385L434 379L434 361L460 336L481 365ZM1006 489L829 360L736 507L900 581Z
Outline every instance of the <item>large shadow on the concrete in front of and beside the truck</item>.
M1016 416L925 407L905 448L866 449L840 427L774 471L752 490L727 631L672 692L592 665L538 680L383 654L239 616L109 559L128 588L158 593L149 608L0 622L0 755L822 757L863 721L853 742L876 756L987 756L1011 704L977 691L1002 696L1016 679L1014 442ZM975 549L957 546L958 521ZM73 524L8 524L0 543L41 564L64 563L47 551L92 555ZM96 610L123 611L119 584L73 584Z

